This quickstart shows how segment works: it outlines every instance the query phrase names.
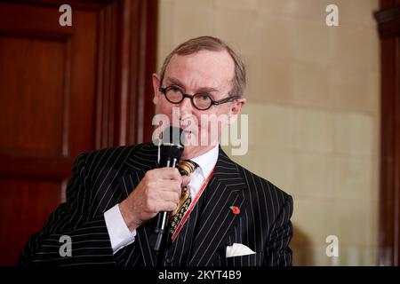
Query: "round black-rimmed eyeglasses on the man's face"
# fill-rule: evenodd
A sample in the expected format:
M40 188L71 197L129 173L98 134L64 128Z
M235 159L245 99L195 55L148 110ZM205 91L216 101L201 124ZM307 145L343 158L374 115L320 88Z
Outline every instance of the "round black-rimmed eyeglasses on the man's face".
M180 104L183 99L189 98L192 102L192 106L195 106L198 110L207 110L212 106L218 106L240 98L240 96L229 96L225 99L213 100L207 93L189 95L176 86L168 86L166 88L160 87L158 88L158 91L161 91L164 94L165 99L172 104Z

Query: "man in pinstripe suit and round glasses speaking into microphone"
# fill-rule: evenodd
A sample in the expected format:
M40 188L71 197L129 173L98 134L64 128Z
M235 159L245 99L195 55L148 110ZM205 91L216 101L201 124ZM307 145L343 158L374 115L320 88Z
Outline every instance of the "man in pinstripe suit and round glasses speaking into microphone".
M153 75L154 104L184 130L181 160L193 162L193 173L158 168L152 143L81 154L67 201L29 239L19 264L292 264L292 197L228 158L219 146L221 123L212 135L212 115L230 123L240 114L244 85L244 64L220 39L180 44ZM204 137L208 143L199 143ZM152 220L177 209L182 188L188 208L157 254ZM63 236L67 254L60 254Z

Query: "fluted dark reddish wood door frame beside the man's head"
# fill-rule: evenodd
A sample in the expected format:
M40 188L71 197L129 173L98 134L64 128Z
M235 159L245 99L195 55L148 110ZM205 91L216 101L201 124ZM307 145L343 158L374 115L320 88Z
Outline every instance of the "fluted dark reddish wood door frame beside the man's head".
M100 15L96 148L150 141L157 2L118 1Z

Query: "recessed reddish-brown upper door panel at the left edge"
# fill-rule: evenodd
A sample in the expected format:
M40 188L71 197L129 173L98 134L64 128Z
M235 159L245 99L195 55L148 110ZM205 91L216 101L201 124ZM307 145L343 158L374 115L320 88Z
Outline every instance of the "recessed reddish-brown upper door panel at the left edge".
M0 36L0 152L61 156L65 45Z

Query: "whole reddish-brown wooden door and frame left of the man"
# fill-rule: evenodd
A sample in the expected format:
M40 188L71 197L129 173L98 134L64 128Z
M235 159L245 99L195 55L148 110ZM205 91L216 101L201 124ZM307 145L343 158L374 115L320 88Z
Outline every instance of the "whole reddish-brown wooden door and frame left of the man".
M77 154L150 140L156 11L156 0L0 0L0 265L63 200Z

